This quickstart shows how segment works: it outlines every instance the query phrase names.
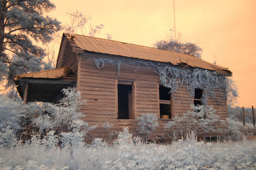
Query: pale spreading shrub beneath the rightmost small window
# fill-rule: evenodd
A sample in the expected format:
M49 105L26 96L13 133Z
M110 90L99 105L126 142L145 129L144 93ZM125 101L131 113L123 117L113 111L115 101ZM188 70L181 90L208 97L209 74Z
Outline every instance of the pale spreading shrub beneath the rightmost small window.
M191 105L191 110L179 117L175 115L173 120L164 125L165 129L172 129L172 136L176 134L175 129L182 134L195 131L197 134L211 134L212 132L221 133L225 129L225 121L215 114L216 110L212 106Z

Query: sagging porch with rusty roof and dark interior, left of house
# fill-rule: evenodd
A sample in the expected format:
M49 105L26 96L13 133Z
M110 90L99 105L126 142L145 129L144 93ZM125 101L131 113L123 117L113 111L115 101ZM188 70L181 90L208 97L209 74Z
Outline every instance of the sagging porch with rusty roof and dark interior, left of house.
M13 77L24 102L42 101L56 103L62 97L61 90L73 87L76 77L67 67L19 74Z

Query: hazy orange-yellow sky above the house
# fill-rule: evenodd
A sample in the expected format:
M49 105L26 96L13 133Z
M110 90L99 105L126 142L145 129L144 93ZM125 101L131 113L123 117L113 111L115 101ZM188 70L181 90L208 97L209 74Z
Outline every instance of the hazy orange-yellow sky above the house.
M80 11L92 24L104 24L97 35L153 46L168 39L173 28L173 0L52 0L51 12L63 23L66 12ZM228 67L239 89L239 106L256 107L256 1L176 0L177 32L182 41L196 43L202 59Z

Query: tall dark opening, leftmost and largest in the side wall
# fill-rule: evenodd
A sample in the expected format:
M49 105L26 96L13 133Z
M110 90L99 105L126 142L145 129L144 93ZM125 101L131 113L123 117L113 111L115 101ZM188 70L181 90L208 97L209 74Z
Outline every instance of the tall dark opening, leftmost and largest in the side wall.
M118 118L132 118L132 85L118 84Z

